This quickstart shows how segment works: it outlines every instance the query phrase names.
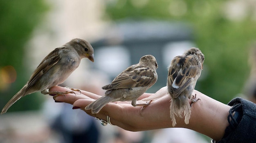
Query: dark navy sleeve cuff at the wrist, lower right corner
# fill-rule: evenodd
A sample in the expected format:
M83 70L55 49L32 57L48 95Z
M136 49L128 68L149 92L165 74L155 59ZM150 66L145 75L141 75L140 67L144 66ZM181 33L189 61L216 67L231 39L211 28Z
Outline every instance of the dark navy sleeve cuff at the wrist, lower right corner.
M256 143L256 104L235 98L228 105L232 106L227 117L229 126L218 143Z

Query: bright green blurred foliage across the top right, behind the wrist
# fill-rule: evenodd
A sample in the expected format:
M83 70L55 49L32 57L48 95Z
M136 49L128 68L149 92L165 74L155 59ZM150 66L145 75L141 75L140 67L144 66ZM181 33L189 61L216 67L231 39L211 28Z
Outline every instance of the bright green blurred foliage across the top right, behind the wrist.
M240 17L228 9L234 6L231 5L234 2L244 3L236 6L246 6ZM196 89L227 103L242 91L249 74L248 48L249 43L256 39L256 11L254 4L249 2L110 0L106 2L106 17L111 20L153 18L191 24L195 43L205 55L204 68L208 71L207 77L198 81Z

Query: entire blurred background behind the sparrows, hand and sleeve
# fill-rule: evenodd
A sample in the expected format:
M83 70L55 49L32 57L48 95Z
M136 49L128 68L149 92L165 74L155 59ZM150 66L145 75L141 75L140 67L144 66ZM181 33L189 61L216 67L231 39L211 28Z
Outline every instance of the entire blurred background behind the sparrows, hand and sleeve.
M225 104L237 96L252 99L255 25L255 0L0 0L0 109L49 52L73 38L90 41L95 62L82 60L63 86L103 95L102 86L153 54L159 64L157 83L147 91L153 93L166 85L171 59L197 47L205 61L195 89ZM0 142L186 142L170 136L177 128L128 132L70 108L41 93L27 95L0 115ZM181 130L192 143L209 142Z

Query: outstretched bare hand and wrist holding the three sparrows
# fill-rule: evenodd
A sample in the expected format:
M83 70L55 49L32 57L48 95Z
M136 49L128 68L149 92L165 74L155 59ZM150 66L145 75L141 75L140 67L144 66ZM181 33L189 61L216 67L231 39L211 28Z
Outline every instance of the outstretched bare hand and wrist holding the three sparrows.
M52 87L49 90L67 91L64 87ZM130 102L111 102L104 106L99 113L92 114L90 110L85 110L85 107L101 96L82 90L81 94L77 92L76 94L58 95L55 100L73 104L74 109L81 108L87 114L105 121L109 116L113 125L125 130L143 131L173 127L170 118L171 97L167 95L167 92L167 87L163 87L154 94L144 93L141 95L138 102L154 99L154 102L147 106L143 112L141 112L140 107L133 107ZM194 104L191 108L189 124L184 123L184 118L176 117L177 124L175 127L189 128L219 141L229 124L227 116L231 107L199 91L194 90L193 94L197 94L202 102Z

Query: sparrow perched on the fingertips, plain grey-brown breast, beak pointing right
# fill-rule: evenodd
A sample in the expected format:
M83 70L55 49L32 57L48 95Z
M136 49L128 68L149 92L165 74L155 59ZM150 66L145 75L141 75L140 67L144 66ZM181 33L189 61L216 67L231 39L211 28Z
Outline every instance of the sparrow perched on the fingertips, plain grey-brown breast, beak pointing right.
M68 94L73 92L49 92L48 89L63 83L68 76L79 66L82 58L94 62L92 45L83 39L72 39L65 45L50 52L32 73L29 81L4 106L1 114L25 95L41 91L43 94ZM75 89L73 89L75 90Z

